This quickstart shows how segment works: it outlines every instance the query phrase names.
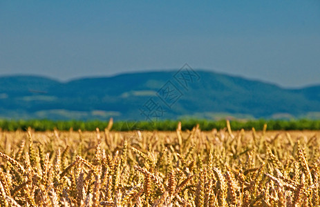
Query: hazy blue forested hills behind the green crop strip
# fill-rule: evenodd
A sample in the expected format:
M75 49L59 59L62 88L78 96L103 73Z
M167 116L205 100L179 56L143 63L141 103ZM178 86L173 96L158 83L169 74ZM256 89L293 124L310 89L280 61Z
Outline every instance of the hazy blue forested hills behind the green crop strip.
M0 77L0 118L320 119L320 86L292 90L203 70L184 79L175 75L176 71L137 72L66 83L45 77Z

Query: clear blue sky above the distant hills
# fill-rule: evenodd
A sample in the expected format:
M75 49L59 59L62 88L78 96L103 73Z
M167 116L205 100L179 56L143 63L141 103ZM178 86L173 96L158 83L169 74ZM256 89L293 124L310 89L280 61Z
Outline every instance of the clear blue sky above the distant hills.
M0 0L0 75L67 80L186 62L320 84L320 1Z

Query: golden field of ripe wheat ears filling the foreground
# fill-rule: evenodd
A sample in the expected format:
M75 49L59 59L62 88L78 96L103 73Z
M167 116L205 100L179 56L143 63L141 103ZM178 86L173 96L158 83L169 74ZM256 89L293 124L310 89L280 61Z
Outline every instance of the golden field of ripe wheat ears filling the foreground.
M319 206L320 132L0 132L1 206Z

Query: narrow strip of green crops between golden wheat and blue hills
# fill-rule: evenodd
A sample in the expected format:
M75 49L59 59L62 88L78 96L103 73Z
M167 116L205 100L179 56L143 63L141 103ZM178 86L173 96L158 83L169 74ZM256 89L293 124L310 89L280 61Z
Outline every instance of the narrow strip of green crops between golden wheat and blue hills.
M226 121L208 121L208 120L165 120L165 121L115 121L113 130L128 131L128 130L161 130L172 131L176 130L178 121L182 122L182 130L191 130L199 124L201 130L217 130L226 127ZM51 120L0 120L0 128L2 130L15 131L26 130L32 128L36 131L46 130L88 130L93 131L96 128L103 130L108 126L108 121L51 121ZM252 120L252 121L230 121L231 127L234 130L263 130L263 125L267 124L267 130L320 130L320 120Z

